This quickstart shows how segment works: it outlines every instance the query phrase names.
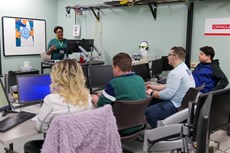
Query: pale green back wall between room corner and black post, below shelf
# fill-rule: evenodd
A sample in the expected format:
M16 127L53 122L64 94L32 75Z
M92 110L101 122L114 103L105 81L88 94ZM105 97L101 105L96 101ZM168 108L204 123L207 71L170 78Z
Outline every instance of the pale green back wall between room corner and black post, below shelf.
M77 4L103 3L103 1L81 1ZM75 3L76 4L76 3ZM75 5L74 1L58 1L58 23L65 27L65 36L73 38L74 11L71 18L65 16L65 6ZM91 11L77 16L81 25L81 38L94 38L96 46L102 51L106 63L111 63L114 54L125 51L138 53L139 44L146 40L150 53L167 55L174 45L185 46L187 6L184 3L162 4L158 6L157 21L153 20L147 5L102 9L101 19L97 22ZM161 30L159 30L161 29Z

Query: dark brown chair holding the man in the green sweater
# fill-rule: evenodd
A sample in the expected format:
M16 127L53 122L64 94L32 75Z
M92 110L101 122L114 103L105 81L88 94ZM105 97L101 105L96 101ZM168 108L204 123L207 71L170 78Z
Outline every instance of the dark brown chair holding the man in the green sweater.
M115 101L113 104L113 113L117 120L118 130L140 126L140 129L130 135L122 136L121 142L127 142L136 139L146 126L145 110L152 97L136 101Z

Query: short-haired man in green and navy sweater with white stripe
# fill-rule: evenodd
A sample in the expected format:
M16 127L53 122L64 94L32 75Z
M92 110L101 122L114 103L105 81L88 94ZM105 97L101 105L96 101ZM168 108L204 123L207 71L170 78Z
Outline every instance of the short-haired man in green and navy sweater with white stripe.
M96 107L113 104L116 100L142 100L146 98L144 80L131 72L132 59L126 53L118 53L113 57L114 78L109 81L101 95L92 94L92 102ZM140 127L119 131L123 136L139 130Z

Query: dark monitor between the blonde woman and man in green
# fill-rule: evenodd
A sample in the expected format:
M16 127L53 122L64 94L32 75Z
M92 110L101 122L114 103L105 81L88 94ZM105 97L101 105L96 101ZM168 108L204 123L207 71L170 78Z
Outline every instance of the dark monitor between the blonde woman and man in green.
M112 65L89 66L90 89L102 89L113 78Z

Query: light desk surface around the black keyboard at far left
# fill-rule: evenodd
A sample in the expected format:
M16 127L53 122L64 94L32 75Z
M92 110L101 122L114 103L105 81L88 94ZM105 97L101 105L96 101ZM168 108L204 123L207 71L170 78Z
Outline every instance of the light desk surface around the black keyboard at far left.
M29 111L33 113L38 113L40 110L39 105L28 106L23 109L23 111ZM13 115L13 114L8 114ZM8 115L6 117L8 117ZM2 118L2 117L1 117ZM22 139L26 139L35 135L40 134L35 126L35 121L31 119L17 125L16 127L10 129L6 132L0 132L0 143L3 145L8 145Z

